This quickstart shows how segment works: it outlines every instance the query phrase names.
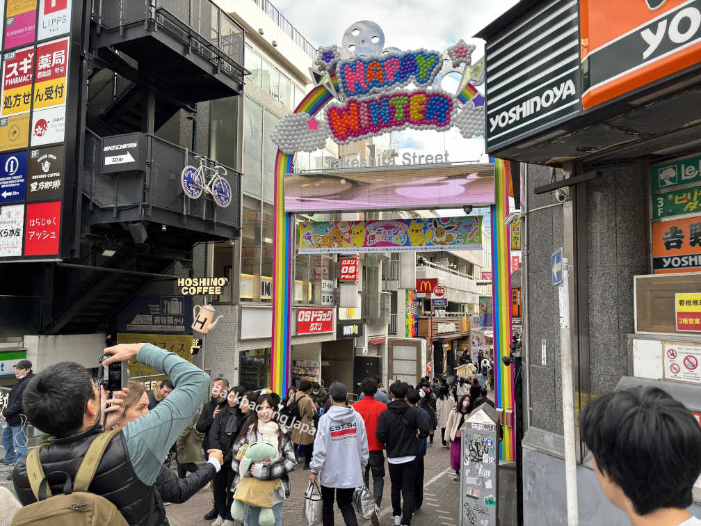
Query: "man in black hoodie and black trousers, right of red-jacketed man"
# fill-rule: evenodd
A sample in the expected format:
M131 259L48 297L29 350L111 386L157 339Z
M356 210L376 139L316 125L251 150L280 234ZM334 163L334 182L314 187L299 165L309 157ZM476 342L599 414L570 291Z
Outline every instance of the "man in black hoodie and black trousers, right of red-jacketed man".
M409 386L405 382L390 385L392 401L387 405L387 409L381 412L375 431L377 440L387 448L395 526L411 525L411 514L416 509L414 461L418 454L418 440L428 436L428 422L418 408L411 407L405 400L408 391Z

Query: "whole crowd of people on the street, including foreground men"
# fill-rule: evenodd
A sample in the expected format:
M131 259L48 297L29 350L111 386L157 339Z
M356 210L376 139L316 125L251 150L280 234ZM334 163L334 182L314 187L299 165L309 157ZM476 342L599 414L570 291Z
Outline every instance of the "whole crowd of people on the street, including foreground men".
M212 380L193 364L151 344L120 344L105 354L109 358L104 365L137 360L168 379L151 394L143 384L130 381L128 389L108 398L104 386L93 382L90 373L76 363L58 363L32 376L28 376L29 364L27 371L18 374L20 382L29 378L21 384L22 414L53 437L28 458L16 448L8 451L20 454L13 483L24 506L16 515L25 520L22 523L42 523L28 517L46 520L51 516L58 521L59 513L63 519L75 520L80 506L49 507L46 502L51 499L45 499L47 493L57 495L53 499L70 497L65 486L73 480L91 494L106 497L93 503L95 509L99 504L102 511L121 519L105 523L168 525L168 504L187 501L209 484L212 509L204 517L213 520L212 526L231 526L238 520L245 526L280 526L283 502L293 490L290 473L303 462L309 484L319 487L324 526L334 524L334 504L346 525L358 525L353 499L356 489L363 487L374 499L369 518L379 525L386 471L393 523L409 526L422 508L424 457L433 446L435 431L440 429L443 447L450 447L453 478L459 480L460 429L472 410L484 403L494 406L486 386L476 378L461 379L451 392L444 380L435 384L428 377L416 386L396 381L387 390L379 377L370 377L362 381L362 394L355 403L341 382L332 383L327 392L304 380L281 399L270 389L246 391L242 386L230 387L224 378ZM643 406L647 410L659 406L667 426L680 431L675 437L670 427L667 440L676 440L679 452L690 455L683 470L675 473L685 485L690 480L690 488L694 473L697 476L701 469L701 431L697 425L693 429L695 421L683 405L660 393L601 397L583 414L583 437L594 453L599 483L614 504L632 506L631 513L659 510L644 502L649 492L629 492L627 468L617 460L618 444L601 429L614 425L610 417L614 407L625 405L627 414L634 416ZM11 418L12 412L6 410L5 415ZM642 427L631 433L649 424L641 420L635 425ZM98 445L102 452L96 456ZM641 438L636 447L644 449L646 440ZM83 473L88 459L92 478ZM171 459L177 474L170 468ZM50 492L39 484L45 476ZM295 490L304 492L306 487ZM676 500L669 504L687 506L687 490L676 492ZM52 515L46 515L49 509ZM683 508L672 511L670 516L684 520L689 516Z

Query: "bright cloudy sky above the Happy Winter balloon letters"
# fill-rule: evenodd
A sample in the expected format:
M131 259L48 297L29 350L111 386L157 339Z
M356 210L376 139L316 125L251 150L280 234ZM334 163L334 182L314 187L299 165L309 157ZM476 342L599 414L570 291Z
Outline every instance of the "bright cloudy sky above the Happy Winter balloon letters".
M377 22L385 33L385 47L402 50L427 48L445 50L458 39L472 35L517 4L517 0L404 0L400 2L354 0L275 0L285 17L313 46L340 45L346 29L359 20ZM429 21L426 23L426 21ZM484 43L477 45L473 62L484 54Z

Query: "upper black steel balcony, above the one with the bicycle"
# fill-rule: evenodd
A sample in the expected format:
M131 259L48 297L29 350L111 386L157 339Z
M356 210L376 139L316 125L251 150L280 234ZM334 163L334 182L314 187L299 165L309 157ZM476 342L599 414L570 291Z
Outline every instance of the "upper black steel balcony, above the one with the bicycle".
M186 102L243 92L243 29L210 0L93 0L92 47L138 63Z

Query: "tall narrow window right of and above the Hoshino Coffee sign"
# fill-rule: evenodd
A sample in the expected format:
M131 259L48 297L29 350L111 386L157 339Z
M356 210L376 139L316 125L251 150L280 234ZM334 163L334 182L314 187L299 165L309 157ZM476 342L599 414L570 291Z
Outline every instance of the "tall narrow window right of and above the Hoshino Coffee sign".
M241 216L241 279L242 302L258 302L261 277L261 203L243 196Z

